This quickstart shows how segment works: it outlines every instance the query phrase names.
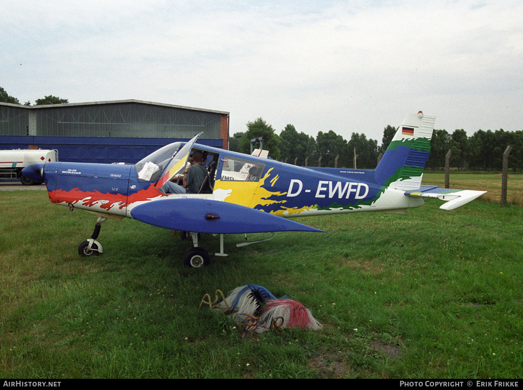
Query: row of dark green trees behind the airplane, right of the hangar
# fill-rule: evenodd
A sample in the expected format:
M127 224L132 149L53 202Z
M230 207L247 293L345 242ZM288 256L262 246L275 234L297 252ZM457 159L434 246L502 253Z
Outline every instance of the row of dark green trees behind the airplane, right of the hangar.
M269 151L269 157L286 161L299 166L334 167L336 156L337 166L374 169L378 157L384 153L396 129L387 125L383 129L381 144L377 140L368 139L363 133L352 133L350 140L333 130L318 132L316 137L298 132L294 125L288 124L280 134L264 119L258 118L247 123L245 132L235 133L229 140L232 151L251 153L251 140L260 138L263 148ZM502 156L508 145L512 146L509 157L509 168L514 171L523 170L523 131L508 132L503 129L478 130L468 136L463 129L449 133L446 130L434 130L430 157L427 168L438 169L445 166L445 156L451 151L450 166L456 169L497 171L502 169ZM259 147L259 141L254 143Z

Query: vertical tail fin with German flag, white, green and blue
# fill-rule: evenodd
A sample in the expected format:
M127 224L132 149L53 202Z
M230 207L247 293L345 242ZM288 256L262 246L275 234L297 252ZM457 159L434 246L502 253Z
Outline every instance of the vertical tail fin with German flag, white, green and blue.
M376 167L374 177L381 186L405 191L419 189L435 120L421 111L407 115Z

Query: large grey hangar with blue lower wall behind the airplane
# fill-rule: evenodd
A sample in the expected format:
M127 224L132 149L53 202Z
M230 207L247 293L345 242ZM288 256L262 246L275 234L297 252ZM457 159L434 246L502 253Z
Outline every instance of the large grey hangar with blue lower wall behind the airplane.
M229 112L138 100L21 106L0 103L0 149L58 150L60 161L134 164L172 142L228 148Z

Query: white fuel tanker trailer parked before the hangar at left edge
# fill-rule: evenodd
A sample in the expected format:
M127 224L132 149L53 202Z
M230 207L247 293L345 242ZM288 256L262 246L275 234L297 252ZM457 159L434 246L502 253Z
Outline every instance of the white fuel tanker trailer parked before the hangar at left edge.
M20 179L25 186L41 184L22 175L22 168L31 164L58 161L58 151L43 149L14 149L0 151L0 180Z

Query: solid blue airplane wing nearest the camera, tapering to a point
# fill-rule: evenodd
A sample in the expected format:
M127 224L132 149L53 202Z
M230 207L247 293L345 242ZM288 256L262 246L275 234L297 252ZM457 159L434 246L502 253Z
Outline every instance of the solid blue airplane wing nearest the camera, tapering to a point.
M159 199L133 208L131 216L150 225L198 233L323 232L264 211L210 199Z

